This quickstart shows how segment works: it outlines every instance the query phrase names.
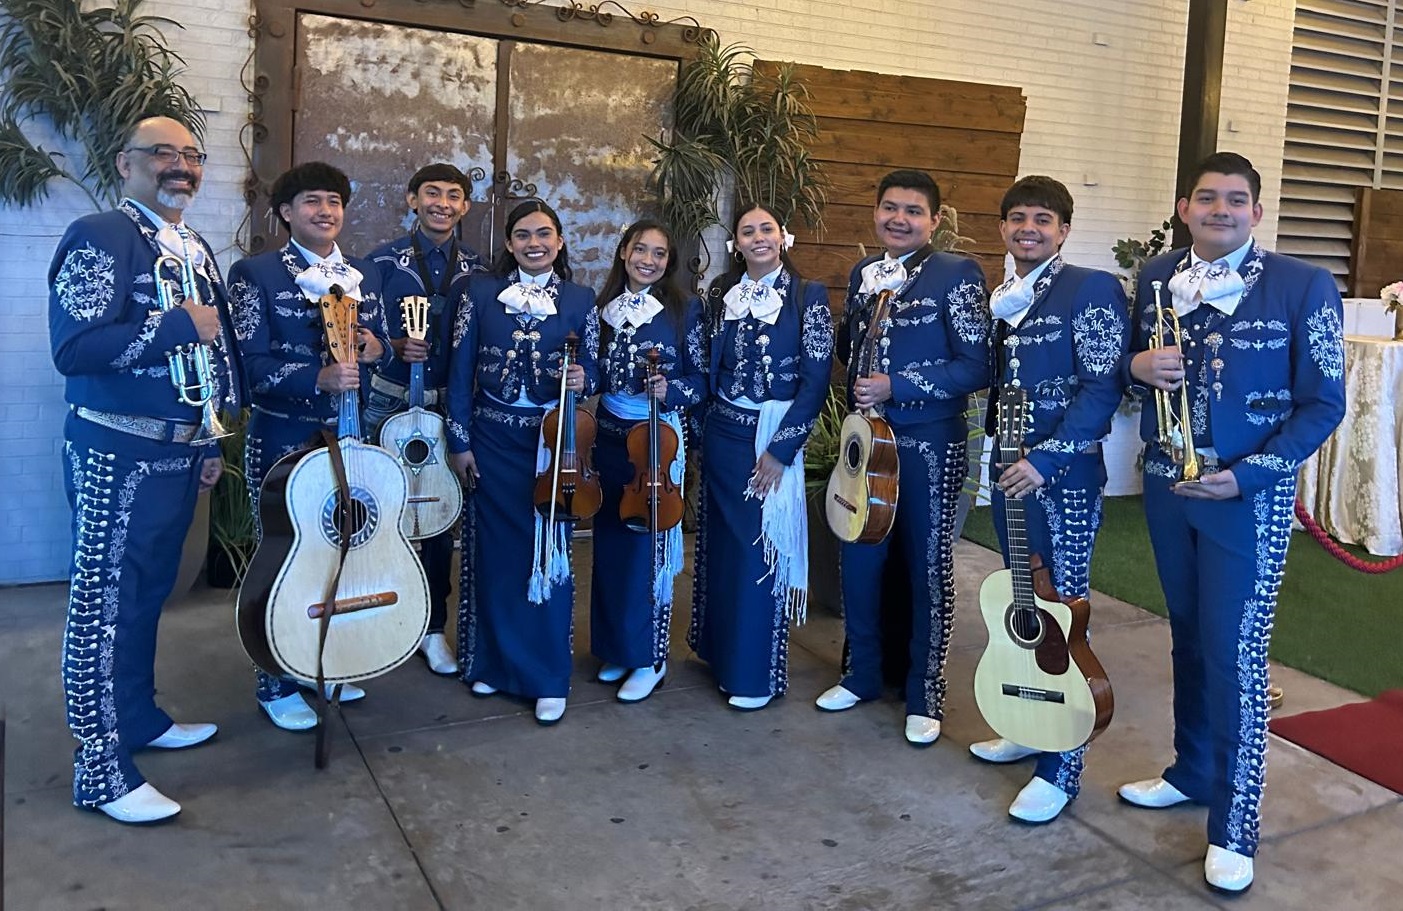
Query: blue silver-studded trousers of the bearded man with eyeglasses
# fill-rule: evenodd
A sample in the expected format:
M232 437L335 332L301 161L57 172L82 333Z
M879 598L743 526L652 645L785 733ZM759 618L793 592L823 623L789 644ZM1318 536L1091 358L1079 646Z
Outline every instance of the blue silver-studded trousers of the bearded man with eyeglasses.
M199 493L201 451L142 439L69 414L63 487L73 567L63 629L63 692L73 803L97 807L140 787L132 761L166 733L156 705L156 626L175 585Z

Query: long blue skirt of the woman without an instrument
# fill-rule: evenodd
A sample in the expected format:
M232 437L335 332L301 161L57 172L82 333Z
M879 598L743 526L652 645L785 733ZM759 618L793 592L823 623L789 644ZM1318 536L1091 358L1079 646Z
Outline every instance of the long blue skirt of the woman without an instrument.
M746 500L758 415L713 401L702 437L702 512L689 641L732 696L788 688L788 618L765 564L760 501Z

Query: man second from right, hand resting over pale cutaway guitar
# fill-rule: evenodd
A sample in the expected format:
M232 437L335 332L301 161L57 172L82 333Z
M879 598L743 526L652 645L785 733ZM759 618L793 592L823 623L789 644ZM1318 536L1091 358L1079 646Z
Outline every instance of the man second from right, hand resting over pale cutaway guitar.
M1003 194L999 233L1014 274L989 302L998 364L993 387L1020 386L1031 423L1024 428L1026 455L992 466L989 479L1005 561L1005 504L1012 497L1023 501L1027 550L1051 568L1052 587L1063 598L1086 598L1106 487L1100 441L1111 431L1124 392L1120 365L1129 327L1120 279L1062 260L1070 230L1072 194L1059 181L1024 177ZM989 399L991 435L995 408L996 394ZM1085 745L1038 754L996 738L971 744L969 752L985 762L1038 757L1033 778L1009 807L1020 823L1051 823L1080 789Z

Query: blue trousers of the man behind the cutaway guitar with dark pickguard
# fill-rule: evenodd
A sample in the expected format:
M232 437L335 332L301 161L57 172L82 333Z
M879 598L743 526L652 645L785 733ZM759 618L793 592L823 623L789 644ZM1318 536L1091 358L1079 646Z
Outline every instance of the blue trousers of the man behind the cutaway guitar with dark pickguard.
M998 449L995 449L998 453ZM1002 469L992 469L996 483ZM1092 592L1092 546L1101 528L1101 491L1106 463L1101 455L1078 455L1065 473L1023 498L1028 553L1038 554L1052 570L1052 585L1063 598L1086 598ZM1005 525L1005 497L993 487L993 526L999 532L1003 564L1009 564L1009 536ZM1082 790L1086 745L1066 752L1038 754L1034 775L1061 787L1069 797Z

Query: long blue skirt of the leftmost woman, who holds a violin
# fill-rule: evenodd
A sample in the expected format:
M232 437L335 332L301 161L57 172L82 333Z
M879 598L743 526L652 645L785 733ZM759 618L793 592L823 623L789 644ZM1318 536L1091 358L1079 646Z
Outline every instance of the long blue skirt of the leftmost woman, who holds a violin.
M575 581L544 604L528 597L536 543L540 410L473 406L473 455L481 477L463 508L457 657L463 681L532 699L570 693ZM568 533L567 533L568 538Z

